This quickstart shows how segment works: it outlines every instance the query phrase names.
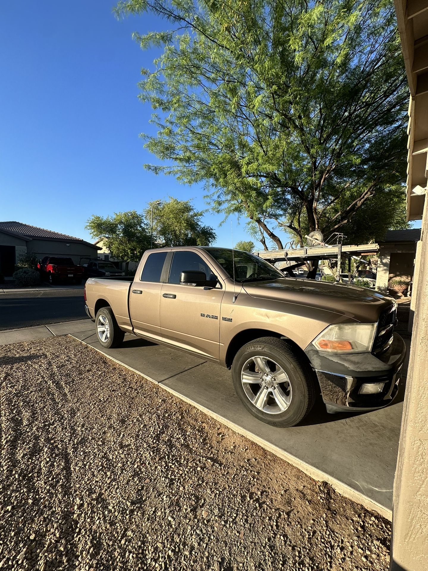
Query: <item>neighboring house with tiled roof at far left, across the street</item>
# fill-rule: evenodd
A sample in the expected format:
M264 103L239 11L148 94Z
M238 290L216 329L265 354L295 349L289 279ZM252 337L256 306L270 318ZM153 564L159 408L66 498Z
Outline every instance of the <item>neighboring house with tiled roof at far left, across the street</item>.
M0 274L10 277L23 254L38 259L45 256L66 256L75 264L81 256L96 258L98 246L74 236L67 236L22 222L0 222Z

